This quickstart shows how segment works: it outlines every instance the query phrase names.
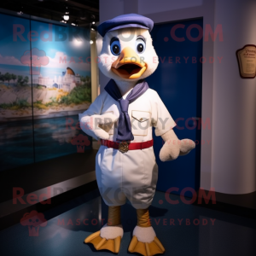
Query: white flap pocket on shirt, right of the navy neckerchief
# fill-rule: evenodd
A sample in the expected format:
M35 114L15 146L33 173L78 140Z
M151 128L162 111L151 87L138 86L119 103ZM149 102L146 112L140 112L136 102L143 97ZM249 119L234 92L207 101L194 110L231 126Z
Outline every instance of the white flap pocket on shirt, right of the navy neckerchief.
M147 111L131 111L131 132L134 136L147 136L151 113Z

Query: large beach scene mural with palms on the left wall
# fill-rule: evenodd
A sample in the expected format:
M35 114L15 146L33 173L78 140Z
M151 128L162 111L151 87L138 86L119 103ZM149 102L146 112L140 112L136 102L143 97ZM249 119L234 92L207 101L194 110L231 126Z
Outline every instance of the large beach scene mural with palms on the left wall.
M90 29L0 14L1 171L84 153L90 107Z

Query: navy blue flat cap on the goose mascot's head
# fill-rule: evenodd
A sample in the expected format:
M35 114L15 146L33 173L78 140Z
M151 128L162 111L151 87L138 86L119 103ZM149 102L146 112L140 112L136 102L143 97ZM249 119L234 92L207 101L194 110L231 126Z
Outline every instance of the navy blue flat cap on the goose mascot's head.
M149 18L143 15L129 14L119 15L113 18L112 20L106 20L97 27L97 30L100 33L100 35L104 37L107 32L118 30L119 28L141 27L144 29L148 29L148 31L151 32L153 26L153 20L150 20Z

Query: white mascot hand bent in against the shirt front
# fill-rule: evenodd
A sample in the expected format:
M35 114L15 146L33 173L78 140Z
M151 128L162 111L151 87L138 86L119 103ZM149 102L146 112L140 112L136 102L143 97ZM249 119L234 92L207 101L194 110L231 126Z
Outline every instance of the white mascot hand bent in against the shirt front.
M118 117L116 117L113 113L105 113L102 115L94 114L84 117L82 116L80 118L80 127L82 131L84 131L89 136L96 138L96 140L99 138L108 140L108 131L113 126L113 123L117 121L117 119Z

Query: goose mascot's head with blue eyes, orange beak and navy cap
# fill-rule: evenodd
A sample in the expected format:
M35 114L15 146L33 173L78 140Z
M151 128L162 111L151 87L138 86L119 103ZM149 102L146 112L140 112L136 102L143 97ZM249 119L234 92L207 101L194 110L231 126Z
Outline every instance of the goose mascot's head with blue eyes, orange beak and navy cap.
M114 19L120 19L121 15ZM113 20L114 20L113 19ZM131 15L131 23L135 19L147 19L141 15ZM108 22L111 20L107 20ZM153 21L152 27L153 27ZM122 23L120 22L122 25ZM151 27L151 29L152 29ZM100 28L101 30L102 28ZM136 84L138 80L147 78L158 67L158 56L152 44L147 27L136 24L117 26L103 34L102 51L99 55L99 68L108 78Z

